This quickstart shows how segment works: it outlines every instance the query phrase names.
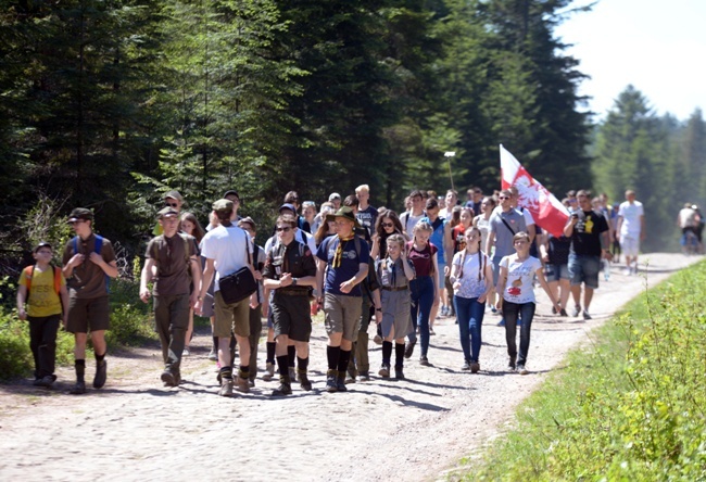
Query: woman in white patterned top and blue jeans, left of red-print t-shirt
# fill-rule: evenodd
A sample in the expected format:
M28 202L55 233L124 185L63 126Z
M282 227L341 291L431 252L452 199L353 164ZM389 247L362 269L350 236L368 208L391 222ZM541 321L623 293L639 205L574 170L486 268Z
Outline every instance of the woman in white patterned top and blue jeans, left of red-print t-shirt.
M454 306L464 351L462 370L477 373L481 345L481 327L486 313L486 299L493 290L493 267L486 253L480 251L480 230L469 227L464 233L466 248L454 255L451 282L454 287Z

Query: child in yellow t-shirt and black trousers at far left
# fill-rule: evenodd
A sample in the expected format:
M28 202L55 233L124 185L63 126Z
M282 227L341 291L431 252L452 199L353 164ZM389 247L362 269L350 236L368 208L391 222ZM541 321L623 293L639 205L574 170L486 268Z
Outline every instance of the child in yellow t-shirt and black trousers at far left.
M51 264L52 254L48 242L37 244L31 254L36 263L22 271L17 289L17 316L29 322L34 385L47 389L56 380L56 332L62 317L65 326L68 309L66 280L61 269Z

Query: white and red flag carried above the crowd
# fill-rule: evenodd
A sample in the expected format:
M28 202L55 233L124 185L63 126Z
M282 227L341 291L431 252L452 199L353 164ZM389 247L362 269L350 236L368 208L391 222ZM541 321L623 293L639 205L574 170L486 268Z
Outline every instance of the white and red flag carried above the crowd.
M562 236L569 212L554 194L525 170L503 144L500 144L500 170L503 189L509 189L512 186L517 188L517 205L528 210L539 227L556 237Z

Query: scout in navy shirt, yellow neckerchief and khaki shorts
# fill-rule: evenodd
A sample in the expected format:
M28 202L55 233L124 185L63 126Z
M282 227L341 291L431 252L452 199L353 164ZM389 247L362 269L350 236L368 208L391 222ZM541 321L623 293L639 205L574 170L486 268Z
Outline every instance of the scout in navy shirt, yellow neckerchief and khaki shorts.
M317 289L323 293L317 301L324 304L328 333L326 390L345 392L345 370L361 322L358 283L367 276L370 254L368 244L354 234L360 224L351 207L341 207L326 216L326 221L336 223L337 233L326 238L316 252Z

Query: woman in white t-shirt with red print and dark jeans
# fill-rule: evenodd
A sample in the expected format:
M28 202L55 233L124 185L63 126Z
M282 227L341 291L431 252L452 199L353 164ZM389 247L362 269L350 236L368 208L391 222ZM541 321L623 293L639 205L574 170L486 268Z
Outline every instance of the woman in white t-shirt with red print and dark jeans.
M556 302L552 290L550 290L546 279L544 279L542 262L529 254L529 234L524 231L518 232L513 238L513 244L516 253L503 257L500 262L497 293L501 295L497 300L497 309L502 309L505 318L505 340L507 341L507 354L509 355L508 368L510 370L517 369L520 375L527 375L529 371L525 368L525 364L527 363L530 329L532 328L535 309L534 290L532 288L532 280L535 275L552 301L554 309L559 312L562 308ZM519 333L519 354L515 341L518 317L522 319Z

